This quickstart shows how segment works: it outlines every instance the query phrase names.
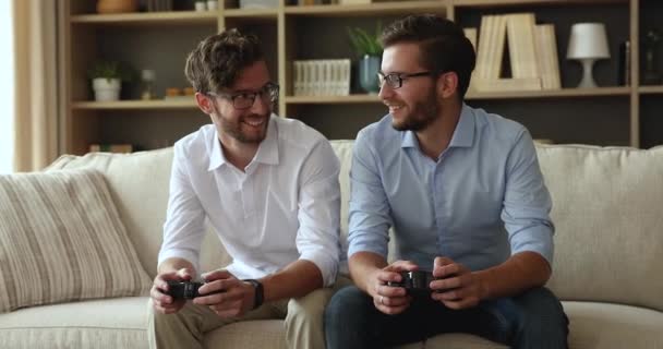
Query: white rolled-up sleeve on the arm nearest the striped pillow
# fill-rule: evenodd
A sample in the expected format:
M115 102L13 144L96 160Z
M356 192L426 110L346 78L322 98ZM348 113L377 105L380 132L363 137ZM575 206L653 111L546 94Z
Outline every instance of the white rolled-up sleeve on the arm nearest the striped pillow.
M176 144L164 242L158 263L180 257L189 261L198 270L201 243L205 236L205 210L191 184L185 159L183 145Z

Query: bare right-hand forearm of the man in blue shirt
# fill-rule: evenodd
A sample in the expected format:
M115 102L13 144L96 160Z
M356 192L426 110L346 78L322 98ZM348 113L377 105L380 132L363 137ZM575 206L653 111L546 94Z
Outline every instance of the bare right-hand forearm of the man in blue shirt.
M513 297L545 285L551 277L547 261L535 252L514 254L503 264L475 272L482 284L482 299Z

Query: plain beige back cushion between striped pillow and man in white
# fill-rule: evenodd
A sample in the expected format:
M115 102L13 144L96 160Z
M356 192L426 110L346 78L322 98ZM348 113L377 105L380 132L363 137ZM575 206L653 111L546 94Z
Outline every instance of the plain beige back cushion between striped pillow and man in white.
M164 237L171 164L172 147L168 147L132 154L63 155L48 170L91 168L104 173L138 258L154 278ZM209 229L201 251L201 270L219 268L230 262L224 245Z

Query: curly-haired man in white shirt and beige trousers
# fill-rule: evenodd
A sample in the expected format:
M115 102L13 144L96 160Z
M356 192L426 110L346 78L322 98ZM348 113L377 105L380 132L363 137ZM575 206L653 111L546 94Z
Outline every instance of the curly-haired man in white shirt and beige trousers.
M204 39L185 73L213 124L174 145L150 346L202 348L205 333L225 324L285 318L289 347L324 348L326 287L339 262L339 163L329 142L272 113L278 85L254 36L231 29ZM206 220L233 262L202 274L192 302L176 301L168 281L203 272Z

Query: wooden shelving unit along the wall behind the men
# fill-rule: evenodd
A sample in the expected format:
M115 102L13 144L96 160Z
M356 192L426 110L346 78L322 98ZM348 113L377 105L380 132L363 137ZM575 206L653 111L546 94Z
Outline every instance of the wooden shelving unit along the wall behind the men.
M659 106L663 107L663 103L655 98L663 94L663 85L641 86L638 83L640 32L648 27L663 29L655 16L652 19L653 15L649 14L661 10L658 1L414 0L300 7L286 5L286 0L279 0L274 9L238 9L231 3L236 2L219 0L219 10L207 12L95 14L94 1L64 1L60 32L64 43L61 105L65 115L62 128L67 140L65 153L85 153L89 143L118 140L142 143L145 140L136 134L144 134L147 139L160 132L152 123L178 120L177 125L166 128L170 134L159 135L161 140L177 140L195 131L205 118L201 118L193 99L137 100L140 87L133 85L123 100L92 101L86 68L98 58L129 61L137 69L156 68L160 84L157 91L162 94L165 87L185 86L184 59L200 39L236 26L257 34L264 44L273 79L281 85L279 115L301 119L330 139L349 137L386 112L379 98L362 94L354 86L350 96L291 96L291 62L296 59L353 58L346 27L360 26L372 31L377 21L386 25L411 13L437 13L463 27L477 27L483 14L534 12L538 20L556 25L563 88L470 92L468 104L507 118L525 116L517 121L526 124L534 137L600 145L651 146L663 143L663 130L658 132L661 136L656 139L651 129L652 125L663 128L663 122L656 121L651 112ZM579 81L580 65L565 59L570 24L581 21L602 21L608 25L612 58L596 63L594 73L602 86L599 88L574 88ZM630 86L617 86L616 83L617 46L624 39L631 41ZM361 118L355 119L358 116ZM349 130L350 127L355 129ZM126 129L132 132L117 131ZM647 137L641 142L643 132ZM143 145L143 148L149 146Z

